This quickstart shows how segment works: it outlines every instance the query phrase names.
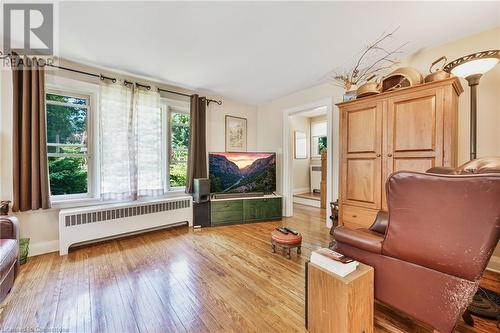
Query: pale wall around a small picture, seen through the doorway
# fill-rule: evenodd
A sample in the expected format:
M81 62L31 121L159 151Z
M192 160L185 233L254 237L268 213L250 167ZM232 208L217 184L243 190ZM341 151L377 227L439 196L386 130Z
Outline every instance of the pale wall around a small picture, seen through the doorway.
M295 150L292 152L292 173L293 173L293 193L309 192L309 157L310 152L310 133L311 122L310 118L304 116L291 116L289 118L290 125L290 147L295 147L295 131L302 132L306 135L307 158L296 159ZM294 149L294 148L293 148Z

